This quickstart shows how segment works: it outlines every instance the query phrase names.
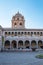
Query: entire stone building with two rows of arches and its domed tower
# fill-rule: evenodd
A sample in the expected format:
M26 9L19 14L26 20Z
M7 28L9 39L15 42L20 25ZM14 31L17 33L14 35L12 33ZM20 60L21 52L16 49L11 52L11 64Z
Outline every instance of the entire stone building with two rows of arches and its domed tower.
M43 29L26 29L25 19L17 12L11 28L0 26L0 49L43 49Z

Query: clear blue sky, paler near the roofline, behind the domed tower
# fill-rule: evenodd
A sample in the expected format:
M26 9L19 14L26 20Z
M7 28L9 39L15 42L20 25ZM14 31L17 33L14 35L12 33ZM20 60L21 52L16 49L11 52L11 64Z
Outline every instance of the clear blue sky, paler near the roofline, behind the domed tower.
M26 28L43 28L43 0L0 0L0 25L11 27L18 11L25 17Z

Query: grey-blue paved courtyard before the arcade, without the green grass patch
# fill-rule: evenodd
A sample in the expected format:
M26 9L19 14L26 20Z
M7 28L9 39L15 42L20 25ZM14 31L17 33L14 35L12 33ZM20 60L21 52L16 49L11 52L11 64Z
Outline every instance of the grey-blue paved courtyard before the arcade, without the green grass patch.
M43 52L0 52L0 65L43 65L35 56Z

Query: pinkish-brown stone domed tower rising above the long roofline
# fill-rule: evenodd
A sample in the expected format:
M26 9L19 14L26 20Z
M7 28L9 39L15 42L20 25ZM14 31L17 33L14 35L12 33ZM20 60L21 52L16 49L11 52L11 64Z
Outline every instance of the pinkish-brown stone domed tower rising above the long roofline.
M12 17L12 28L25 28L24 16L19 12Z

